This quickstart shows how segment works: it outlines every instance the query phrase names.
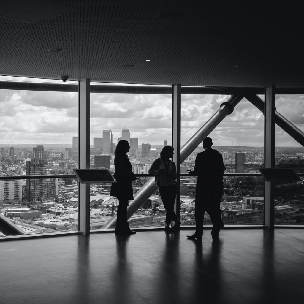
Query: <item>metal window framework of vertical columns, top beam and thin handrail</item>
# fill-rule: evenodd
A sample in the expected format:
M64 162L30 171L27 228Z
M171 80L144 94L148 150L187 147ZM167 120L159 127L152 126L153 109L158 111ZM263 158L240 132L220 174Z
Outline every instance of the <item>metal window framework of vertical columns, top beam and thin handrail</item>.
M15 89L15 90L35 90L35 91L56 91L56 92L78 92L79 102L79 168L89 168L89 147L90 147L90 93L133 93L133 94L171 94L172 93L172 145L174 147L174 161L176 164L181 163L181 144L180 144L180 112L181 112L181 94L241 94L246 97L246 94L265 94L265 134L264 134L264 149L265 149L265 168L273 167L274 151L275 151L275 94L304 94L303 88L275 88L274 86L266 88L222 88L222 87L188 87L181 85L170 86L155 86L155 85L109 85L91 84L90 79L84 79L76 84L57 84L57 83L40 83L40 82L20 82L20 81L0 81L0 89ZM250 101L251 102L251 101ZM187 143L183 150L187 149ZM188 149L189 150L189 149ZM178 152L177 152L178 151ZM184 151L182 151L184 152ZM186 174L180 174L178 178ZM145 174L147 175L147 174ZM236 174L224 174L225 176ZM298 174L304 176L304 174ZM141 174L140 176L143 176ZM240 176L260 176L260 174L240 174ZM60 176L14 176L0 177L0 179L36 179L36 178L68 178L74 175ZM267 183L267 182L266 182ZM79 206L79 230L85 235L89 235L89 184L79 185L79 202L84 201ZM266 202L267 201L267 202ZM274 204L273 189L271 182L265 186L265 216L264 227L269 229L274 228ZM176 205L177 206L177 205ZM175 208L176 208L175 206ZM178 209L178 208L177 208ZM179 213L179 210L176 212Z

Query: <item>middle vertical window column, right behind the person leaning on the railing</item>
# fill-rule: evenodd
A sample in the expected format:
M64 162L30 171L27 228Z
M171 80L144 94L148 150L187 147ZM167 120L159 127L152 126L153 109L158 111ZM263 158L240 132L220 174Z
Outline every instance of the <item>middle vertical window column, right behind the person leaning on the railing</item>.
M178 185L174 211L179 219L181 196L181 85L172 86L172 147L174 148L173 161L176 164L176 182Z

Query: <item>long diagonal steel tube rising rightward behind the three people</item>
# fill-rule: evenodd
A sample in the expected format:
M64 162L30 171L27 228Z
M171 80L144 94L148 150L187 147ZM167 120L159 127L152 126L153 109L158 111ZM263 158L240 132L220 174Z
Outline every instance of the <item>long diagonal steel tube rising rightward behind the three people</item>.
M233 112L234 107L242 100L244 96L241 94L233 94L228 101L223 102L216 113L184 144L181 148L181 163L199 146L203 139L208 136L216 126L229 114ZM147 199L155 192L154 178L143 185L143 187L136 192L134 200L130 201L130 206L127 209L128 219L139 209ZM114 227L116 223L116 215L102 227L102 229L109 229Z

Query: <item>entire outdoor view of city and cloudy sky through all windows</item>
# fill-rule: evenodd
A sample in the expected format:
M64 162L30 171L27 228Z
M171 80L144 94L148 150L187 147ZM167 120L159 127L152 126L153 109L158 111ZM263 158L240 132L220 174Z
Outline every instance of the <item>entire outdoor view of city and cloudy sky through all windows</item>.
M0 80L60 83L60 80L0 76ZM76 82L75 82L76 83ZM95 85L100 85L94 83ZM113 85L113 84L108 84ZM128 140L128 157L138 192L151 176L152 162L165 145L171 145L172 96L170 94L90 94L90 168L114 172L114 151ZM261 96L263 97L263 96ZM276 95L276 108L303 130L302 95ZM189 140L229 95L181 95L181 146ZM0 90L0 176L74 175L78 168L78 94L30 90ZM289 105L293 104L293 107ZM221 208L225 225L262 225L264 220L264 116L246 98L209 135L226 166ZM304 148L276 126L275 164L304 173ZM197 147L181 164L179 209L182 225L195 225ZM142 176L141 176L142 175ZM118 200L111 185L90 185L90 229L100 229L116 213ZM304 221L303 183L275 185L275 224L301 225ZM76 178L1 179L0 216L22 230L47 233L78 229ZM178 206L178 204L177 204ZM165 210L156 190L130 218L130 226L163 226ZM204 224L211 224L205 213Z

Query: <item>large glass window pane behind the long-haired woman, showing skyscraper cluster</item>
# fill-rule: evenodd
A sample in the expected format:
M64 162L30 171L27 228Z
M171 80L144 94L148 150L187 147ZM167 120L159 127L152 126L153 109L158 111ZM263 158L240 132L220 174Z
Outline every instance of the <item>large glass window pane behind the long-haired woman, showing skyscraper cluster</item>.
M92 83L92 85L111 85ZM132 85L119 85L127 88ZM112 84L111 91L116 85ZM147 87L147 86L145 86ZM149 88L149 86L148 86ZM167 87L168 88L168 87ZM171 87L170 87L171 88ZM171 145L172 95L91 93L91 168L114 173L114 151L119 140L130 144L129 160L138 180L133 193L150 180L148 170L164 145ZM141 176L142 175L142 176ZM90 229L100 229L116 214L118 199L109 195L110 184L90 185ZM130 218L131 227L162 225L164 208L157 191Z

